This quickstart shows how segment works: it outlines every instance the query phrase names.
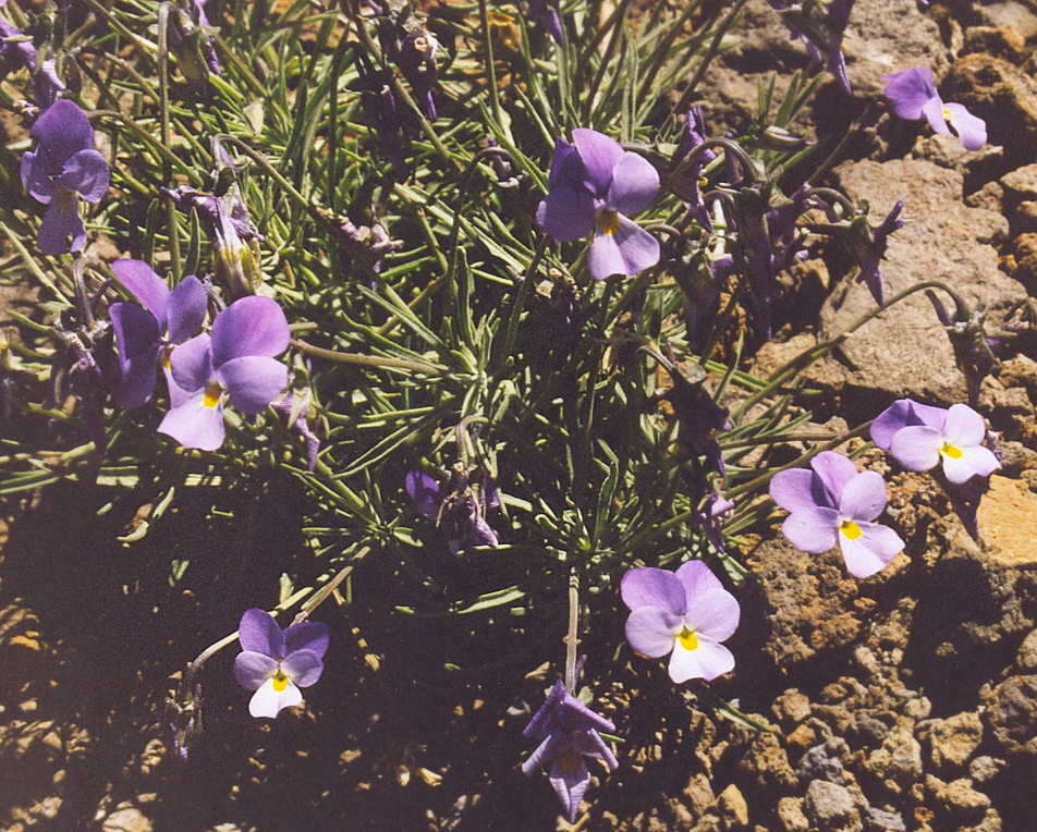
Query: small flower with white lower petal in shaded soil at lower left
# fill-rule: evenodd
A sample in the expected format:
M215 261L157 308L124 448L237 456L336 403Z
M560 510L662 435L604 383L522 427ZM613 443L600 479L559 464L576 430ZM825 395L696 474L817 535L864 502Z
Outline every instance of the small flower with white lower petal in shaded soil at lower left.
M320 678L331 632L316 621L281 629L270 613L253 608L241 616L237 638L242 652L234 659L234 678L246 690L256 692L248 712L273 719L282 708L301 705L298 688Z

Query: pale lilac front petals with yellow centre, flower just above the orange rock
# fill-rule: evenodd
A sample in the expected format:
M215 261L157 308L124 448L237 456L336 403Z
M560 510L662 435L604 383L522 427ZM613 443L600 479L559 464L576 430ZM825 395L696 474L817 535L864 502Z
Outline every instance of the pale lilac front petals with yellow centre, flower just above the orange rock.
M983 416L967 404L955 404L940 425L911 425L898 430L889 450L907 470L929 470L942 463L947 478L960 485L1001 467L993 452L983 445L986 435Z

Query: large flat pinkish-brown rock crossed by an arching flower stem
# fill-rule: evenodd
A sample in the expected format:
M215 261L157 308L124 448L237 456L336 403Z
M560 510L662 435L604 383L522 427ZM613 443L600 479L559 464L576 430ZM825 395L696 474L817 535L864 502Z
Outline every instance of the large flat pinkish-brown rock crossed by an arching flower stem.
M998 229L1004 231L1004 218L962 205L960 173L900 159L846 162L834 175L852 199L867 200L876 216L883 216L898 199L905 201L908 225L890 237L882 266L888 296L934 276L969 303L988 308L1008 308L1023 295L1017 283L998 271L997 252L979 242L995 236ZM846 283L821 308L821 334L844 332L874 308L866 286ZM904 360L904 355L912 360ZM841 377L835 387L842 388L843 404L856 405L861 418L896 396L952 403L967 395L947 333L920 292L870 320L840 346L838 358L819 362L806 375L819 384Z

